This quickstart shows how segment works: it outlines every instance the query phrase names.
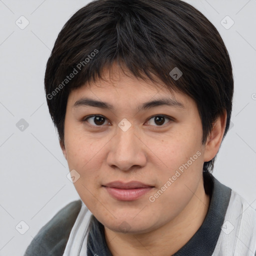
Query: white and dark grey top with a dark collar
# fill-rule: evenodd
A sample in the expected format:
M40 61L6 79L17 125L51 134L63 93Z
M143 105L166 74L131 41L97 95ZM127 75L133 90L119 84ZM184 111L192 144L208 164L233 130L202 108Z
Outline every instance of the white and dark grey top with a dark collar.
M173 256L255 256L256 211L235 191L211 177L206 217ZM81 200L67 204L39 230L26 249L24 256L28 255L112 256L104 226Z

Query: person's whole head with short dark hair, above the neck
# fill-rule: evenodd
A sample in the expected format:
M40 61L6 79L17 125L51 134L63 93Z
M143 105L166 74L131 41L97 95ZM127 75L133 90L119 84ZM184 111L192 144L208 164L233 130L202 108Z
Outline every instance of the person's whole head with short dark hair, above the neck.
M182 75L173 76L177 70ZM180 0L90 2L58 34L44 82L69 170L80 175L75 188L116 229L130 219L149 230L182 211L192 197L187 187L207 179L229 128L228 52L210 21ZM103 186L114 180L152 190L116 200ZM133 219L141 202L150 208Z

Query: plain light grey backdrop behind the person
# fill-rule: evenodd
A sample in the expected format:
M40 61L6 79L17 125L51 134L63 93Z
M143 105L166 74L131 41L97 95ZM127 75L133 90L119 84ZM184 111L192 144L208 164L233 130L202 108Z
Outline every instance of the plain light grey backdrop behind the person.
M0 256L23 255L38 230L79 198L66 177L68 167L48 113L43 77L58 32L87 2L0 0ZM233 127L222 142L213 174L255 208L256 0L187 2L216 26L233 66ZM15 24L21 15L29 21L24 29ZM220 23L226 15L234 21L229 29ZM231 24L228 18L222 22ZM16 127L21 118L29 124L23 131ZM21 220L29 226L24 234L19 233L25 231Z

